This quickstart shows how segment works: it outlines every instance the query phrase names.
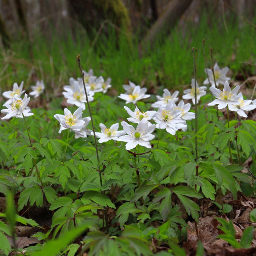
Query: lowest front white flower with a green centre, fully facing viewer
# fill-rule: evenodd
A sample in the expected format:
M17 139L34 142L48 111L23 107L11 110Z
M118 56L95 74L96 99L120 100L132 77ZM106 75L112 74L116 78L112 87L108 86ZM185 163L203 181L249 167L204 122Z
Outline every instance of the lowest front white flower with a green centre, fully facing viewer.
M155 125L151 124L148 126L148 121L146 118L143 118L140 121L136 130L132 125L129 125L125 121L122 121L121 125L123 126L123 130L125 133L127 133L127 135L120 136L118 140L127 142L125 145L127 150L133 149L137 145L151 148L149 140L153 140L153 138L155 138L155 135L151 134L155 130Z

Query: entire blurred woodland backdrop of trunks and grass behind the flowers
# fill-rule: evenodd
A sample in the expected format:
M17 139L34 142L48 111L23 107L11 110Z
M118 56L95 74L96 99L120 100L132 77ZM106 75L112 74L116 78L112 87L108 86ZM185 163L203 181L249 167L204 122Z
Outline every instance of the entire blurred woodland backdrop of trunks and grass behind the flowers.
M255 0L0 0L0 85L25 88L44 79L49 97L61 95L76 64L112 78L112 94L128 80L151 93L191 82L192 47L198 81L206 64L228 65L230 76L255 74Z

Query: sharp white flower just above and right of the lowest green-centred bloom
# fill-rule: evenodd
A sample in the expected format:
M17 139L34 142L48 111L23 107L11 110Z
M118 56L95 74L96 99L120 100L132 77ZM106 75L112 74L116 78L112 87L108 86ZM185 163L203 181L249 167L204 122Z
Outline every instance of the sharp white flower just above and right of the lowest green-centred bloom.
M178 129L187 127L181 119L181 110L174 110L174 104L171 100L169 100L165 108L159 105L159 109L153 120L157 123L157 129L166 129L172 135L175 135Z

